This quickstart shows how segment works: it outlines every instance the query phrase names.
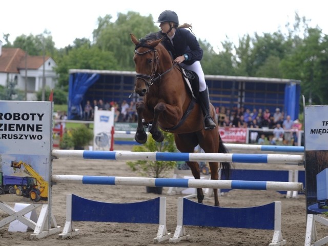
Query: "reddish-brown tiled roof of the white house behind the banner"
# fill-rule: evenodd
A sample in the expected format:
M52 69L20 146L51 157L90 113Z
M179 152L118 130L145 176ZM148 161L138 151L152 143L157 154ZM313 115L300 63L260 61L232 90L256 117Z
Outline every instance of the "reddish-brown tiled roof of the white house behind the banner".
M0 73L19 73L19 69L25 69L26 52L20 48L2 48L0 56ZM49 56L45 56L45 60ZM38 69L44 64L43 56L27 55L26 68Z

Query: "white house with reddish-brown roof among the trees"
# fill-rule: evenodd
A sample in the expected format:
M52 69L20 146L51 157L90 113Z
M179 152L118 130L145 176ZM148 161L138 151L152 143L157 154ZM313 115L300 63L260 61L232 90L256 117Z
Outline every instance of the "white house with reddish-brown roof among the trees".
M0 85L16 80L16 89L26 92L27 100L36 100L36 92L45 85L53 89L57 83L55 61L49 56L31 56L20 48L2 47L0 41Z

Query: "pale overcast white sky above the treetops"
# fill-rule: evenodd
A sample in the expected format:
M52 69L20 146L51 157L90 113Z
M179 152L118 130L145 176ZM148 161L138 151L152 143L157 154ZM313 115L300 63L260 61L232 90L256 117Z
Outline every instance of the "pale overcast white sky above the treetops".
M142 16L153 16L157 21L163 10L173 10L179 22L189 23L197 38L206 40L216 50L229 39L238 45L246 34L273 33L279 29L285 33L286 23L295 23L295 12L310 20L311 27L319 27L328 33L326 10L328 2L322 0L229 0L229 1L131 1L131 0L11 0L1 4L0 40L10 34L13 43L16 36L38 35L45 30L51 33L56 48L72 45L75 38L89 38L97 28L98 17L110 14L115 22L118 13L134 11ZM146 35L147 33L145 33ZM127 33L129 35L129 33Z

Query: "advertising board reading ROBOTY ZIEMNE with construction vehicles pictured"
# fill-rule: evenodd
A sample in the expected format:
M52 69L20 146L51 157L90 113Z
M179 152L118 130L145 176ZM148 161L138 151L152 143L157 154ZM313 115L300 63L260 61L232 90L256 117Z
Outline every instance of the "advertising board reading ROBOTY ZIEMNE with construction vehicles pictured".
M0 101L0 201L48 201L51 147L51 102Z

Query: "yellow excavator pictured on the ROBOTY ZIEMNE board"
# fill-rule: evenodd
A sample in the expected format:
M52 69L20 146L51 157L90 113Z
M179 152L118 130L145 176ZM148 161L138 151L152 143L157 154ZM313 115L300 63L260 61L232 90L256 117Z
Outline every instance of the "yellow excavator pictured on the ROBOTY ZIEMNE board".
M48 199L48 182L27 163L21 160L11 161L12 168L21 168L22 166L31 176L31 179L20 186L15 186L16 195L30 197L35 202L40 199Z

